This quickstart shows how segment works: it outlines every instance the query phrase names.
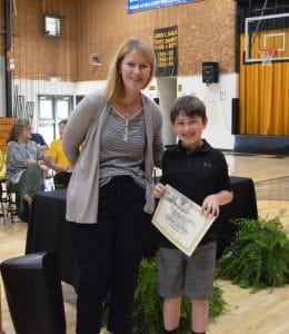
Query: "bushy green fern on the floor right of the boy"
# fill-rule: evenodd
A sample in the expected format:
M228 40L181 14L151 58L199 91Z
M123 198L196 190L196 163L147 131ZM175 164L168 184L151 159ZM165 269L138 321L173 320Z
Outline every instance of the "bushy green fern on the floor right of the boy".
M219 261L218 276L255 289L289 283L288 230L280 216L233 223L236 237Z

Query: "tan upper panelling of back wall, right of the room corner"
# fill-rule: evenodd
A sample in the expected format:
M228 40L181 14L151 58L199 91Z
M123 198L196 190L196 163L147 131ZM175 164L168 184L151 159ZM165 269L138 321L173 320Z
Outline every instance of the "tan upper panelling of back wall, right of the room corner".
M128 14L126 0L111 0L108 9L104 0L80 4L82 17L97 10L99 20L87 21L88 31L100 31L96 37L103 53L103 65L97 70L98 79L106 79L110 56L128 37L140 37L152 43L153 29L177 24L179 28L179 76L199 75L201 62L218 61L222 71L235 71L235 3L231 0L206 0ZM87 16L86 16L87 12ZM80 18L80 21L82 18ZM101 33L104 27L104 33ZM86 39L87 43L91 43ZM88 46L83 45L84 49ZM80 80L96 79L96 73L84 63L87 51L80 60Z

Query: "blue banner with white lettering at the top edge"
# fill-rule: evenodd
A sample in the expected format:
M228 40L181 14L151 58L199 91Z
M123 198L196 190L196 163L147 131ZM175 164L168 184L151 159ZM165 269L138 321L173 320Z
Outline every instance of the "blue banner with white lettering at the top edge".
M196 0L128 0L127 12L136 12L155 8L196 2Z

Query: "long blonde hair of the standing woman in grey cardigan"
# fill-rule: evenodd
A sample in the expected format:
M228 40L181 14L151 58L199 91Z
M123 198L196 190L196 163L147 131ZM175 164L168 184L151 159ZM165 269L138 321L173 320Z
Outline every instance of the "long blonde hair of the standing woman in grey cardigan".
M123 99L124 86L120 72L120 67L123 58L132 50L137 50L138 52L140 52L150 63L150 69L151 69L150 77L143 88L146 88L149 85L150 80L153 77L156 58L152 48L149 47L146 42L136 38L131 38L124 41L120 46L119 50L117 51L110 65L108 77L107 77L106 98L111 104L119 104Z

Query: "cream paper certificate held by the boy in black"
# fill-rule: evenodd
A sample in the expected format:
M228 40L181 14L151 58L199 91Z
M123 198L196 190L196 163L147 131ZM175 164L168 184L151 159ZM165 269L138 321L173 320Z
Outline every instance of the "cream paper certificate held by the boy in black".
M171 186L166 186L152 224L186 255L190 256L216 217L201 214L201 207Z

